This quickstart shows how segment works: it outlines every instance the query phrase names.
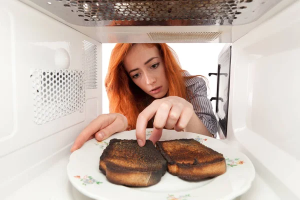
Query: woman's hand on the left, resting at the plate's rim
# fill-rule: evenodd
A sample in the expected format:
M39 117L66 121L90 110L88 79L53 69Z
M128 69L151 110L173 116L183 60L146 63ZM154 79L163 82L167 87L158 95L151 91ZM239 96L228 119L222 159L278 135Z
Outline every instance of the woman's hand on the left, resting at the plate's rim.
M77 136L71 147L71 152L80 148L84 142L93 137L101 141L115 132L124 131L127 125L127 118L120 113L101 114L93 119Z

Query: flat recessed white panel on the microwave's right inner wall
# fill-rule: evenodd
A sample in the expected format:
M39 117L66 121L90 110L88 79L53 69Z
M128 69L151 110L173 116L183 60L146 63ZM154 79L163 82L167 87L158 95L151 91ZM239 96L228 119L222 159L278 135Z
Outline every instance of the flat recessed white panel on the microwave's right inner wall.
M300 31L295 33L300 35ZM296 133L300 119L296 100L300 97L300 68L296 67L300 63L300 42L295 43L299 45L296 49L263 56L250 64L253 86L248 120L252 131L300 160L300 135Z

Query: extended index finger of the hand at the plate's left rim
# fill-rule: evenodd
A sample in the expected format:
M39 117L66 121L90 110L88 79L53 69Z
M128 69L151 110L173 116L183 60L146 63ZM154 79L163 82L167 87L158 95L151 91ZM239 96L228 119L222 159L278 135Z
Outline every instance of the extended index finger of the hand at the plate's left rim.
M105 117L104 114L99 115L97 118L92 120L77 136L71 147L71 152L80 148L88 138L96 133L99 129L106 127L109 124L109 117Z

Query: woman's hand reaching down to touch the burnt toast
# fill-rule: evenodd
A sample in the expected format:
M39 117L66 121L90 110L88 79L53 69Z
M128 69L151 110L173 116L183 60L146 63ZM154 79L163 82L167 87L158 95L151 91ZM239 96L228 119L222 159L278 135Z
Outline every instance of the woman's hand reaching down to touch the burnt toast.
M193 113L192 104L181 97L168 96L154 100L137 117L135 134L138 145L145 144L147 122L154 114L153 132L149 138L153 143L160 139L163 127L182 131Z

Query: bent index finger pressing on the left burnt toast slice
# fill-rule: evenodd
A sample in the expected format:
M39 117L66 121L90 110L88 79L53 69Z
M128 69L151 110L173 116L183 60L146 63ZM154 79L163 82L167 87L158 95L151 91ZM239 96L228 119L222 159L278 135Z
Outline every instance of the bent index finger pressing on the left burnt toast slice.
M135 127L135 136L139 146L145 145L146 141L146 127L148 121L154 116L158 108L158 103L152 102L144 110L142 110L137 119Z

